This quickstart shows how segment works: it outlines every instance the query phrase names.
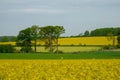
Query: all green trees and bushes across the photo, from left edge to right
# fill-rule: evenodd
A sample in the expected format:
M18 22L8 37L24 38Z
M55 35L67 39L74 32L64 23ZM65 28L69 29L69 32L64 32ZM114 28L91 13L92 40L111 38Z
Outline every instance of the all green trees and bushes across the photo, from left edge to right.
M26 29L20 30L17 36L1 36L1 42L16 41L18 47L21 47L20 52L36 52L37 40L43 40L45 43L45 49L49 49L50 52L58 53L58 38L61 34L65 33L63 26L43 26L32 25ZM118 45L120 47L120 28L99 28L89 32L86 30L84 34L71 37L89 37L89 36L106 36L113 41L115 46L115 37L117 37ZM34 46L34 49L32 47ZM5 50L4 50L5 49ZM0 52L10 52L15 50L11 45L0 45ZM13 52L13 51L11 51Z

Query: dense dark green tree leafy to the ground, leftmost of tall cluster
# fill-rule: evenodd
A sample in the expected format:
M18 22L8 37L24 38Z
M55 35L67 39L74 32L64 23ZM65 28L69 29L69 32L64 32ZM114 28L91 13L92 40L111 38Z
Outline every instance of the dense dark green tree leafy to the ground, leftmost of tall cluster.
M21 51L30 52L31 48L31 29L26 28L25 30L21 30L17 36L17 45L21 46Z

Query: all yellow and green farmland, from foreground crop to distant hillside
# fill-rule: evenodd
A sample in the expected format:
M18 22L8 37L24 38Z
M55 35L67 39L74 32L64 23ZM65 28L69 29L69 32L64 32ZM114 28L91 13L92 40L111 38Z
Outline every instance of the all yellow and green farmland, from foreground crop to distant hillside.
M62 53L58 54L44 46L37 46L37 53L1 53L0 80L119 80L120 51L102 51L101 46L112 45L112 41L99 39L60 39Z

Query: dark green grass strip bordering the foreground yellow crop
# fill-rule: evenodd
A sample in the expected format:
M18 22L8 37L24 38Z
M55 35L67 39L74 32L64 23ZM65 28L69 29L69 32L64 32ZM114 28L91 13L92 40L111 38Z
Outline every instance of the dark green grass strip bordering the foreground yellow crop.
M80 53L1 53L0 59L120 59L120 51Z

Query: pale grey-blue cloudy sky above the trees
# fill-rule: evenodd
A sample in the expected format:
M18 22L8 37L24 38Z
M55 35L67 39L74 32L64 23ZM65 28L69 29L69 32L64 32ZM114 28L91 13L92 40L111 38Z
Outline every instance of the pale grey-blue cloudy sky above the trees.
M64 26L64 35L120 27L120 0L0 0L0 36L32 25Z

